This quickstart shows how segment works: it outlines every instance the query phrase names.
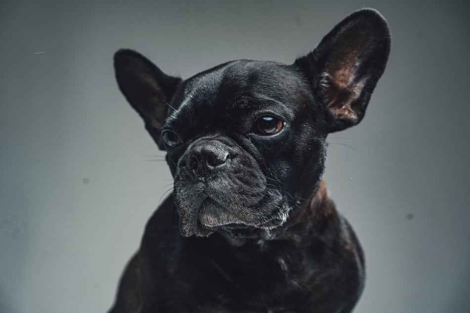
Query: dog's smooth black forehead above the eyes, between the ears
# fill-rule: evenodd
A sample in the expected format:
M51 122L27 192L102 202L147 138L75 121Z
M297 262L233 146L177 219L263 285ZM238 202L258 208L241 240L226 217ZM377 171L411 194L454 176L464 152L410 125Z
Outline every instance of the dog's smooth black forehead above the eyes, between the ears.
M291 66L233 61L187 79L171 103L169 121L189 111L223 116L282 110L292 115L307 97L306 83Z

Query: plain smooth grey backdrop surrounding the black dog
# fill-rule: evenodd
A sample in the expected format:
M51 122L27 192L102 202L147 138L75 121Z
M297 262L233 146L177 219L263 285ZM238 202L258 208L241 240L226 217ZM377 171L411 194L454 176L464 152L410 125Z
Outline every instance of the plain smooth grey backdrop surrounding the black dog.
M464 3L1 1L0 312L107 310L171 188L114 81L118 48L183 78L232 59L291 63L364 6L387 18L392 52L366 118L329 137L326 172L366 252L355 311L470 312Z

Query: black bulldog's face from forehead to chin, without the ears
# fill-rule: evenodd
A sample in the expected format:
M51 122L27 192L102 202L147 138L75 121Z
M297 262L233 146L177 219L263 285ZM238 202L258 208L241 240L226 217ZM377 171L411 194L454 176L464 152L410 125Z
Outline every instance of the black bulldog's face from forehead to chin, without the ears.
M178 87L162 135L183 235L286 221L323 171L312 103L298 69L272 62L230 62Z

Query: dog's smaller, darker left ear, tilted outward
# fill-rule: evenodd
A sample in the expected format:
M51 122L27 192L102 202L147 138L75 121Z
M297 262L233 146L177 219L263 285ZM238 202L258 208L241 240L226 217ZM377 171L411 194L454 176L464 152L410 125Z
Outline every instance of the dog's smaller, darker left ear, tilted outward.
M159 149L164 150L160 128L181 78L166 75L147 58L128 49L116 52L114 70L122 93L144 120L145 129Z

